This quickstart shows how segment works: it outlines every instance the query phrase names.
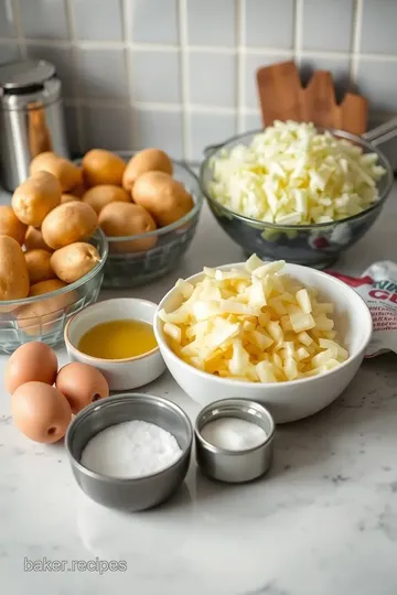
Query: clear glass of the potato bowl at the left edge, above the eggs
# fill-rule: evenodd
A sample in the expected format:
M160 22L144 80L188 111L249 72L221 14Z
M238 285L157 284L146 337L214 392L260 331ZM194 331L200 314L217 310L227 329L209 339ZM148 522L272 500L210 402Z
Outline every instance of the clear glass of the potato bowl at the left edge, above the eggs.
M61 345L68 318L97 301L108 242L100 230L88 241L98 250L100 261L82 279L45 295L0 302L0 353L11 354L31 340Z

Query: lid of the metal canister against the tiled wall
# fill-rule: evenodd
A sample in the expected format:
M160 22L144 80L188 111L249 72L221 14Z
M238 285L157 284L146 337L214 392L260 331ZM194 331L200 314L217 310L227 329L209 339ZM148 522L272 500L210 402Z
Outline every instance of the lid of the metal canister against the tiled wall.
M54 75L55 66L44 60L12 62L0 66L0 88L6 94L31 93Z

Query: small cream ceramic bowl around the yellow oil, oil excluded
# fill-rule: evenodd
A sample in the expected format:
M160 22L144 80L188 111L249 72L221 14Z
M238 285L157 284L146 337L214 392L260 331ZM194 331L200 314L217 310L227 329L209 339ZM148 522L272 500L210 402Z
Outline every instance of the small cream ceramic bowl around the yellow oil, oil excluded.
M158 346L128 359L101 359L83 354L77 345L89 328L104 322L133 318L152 324L155 309L153 302L125 298L106 300L82 310L65 327L65 344L71 360L83 361L100 370L110 390L130 390L152 382L165 370Z

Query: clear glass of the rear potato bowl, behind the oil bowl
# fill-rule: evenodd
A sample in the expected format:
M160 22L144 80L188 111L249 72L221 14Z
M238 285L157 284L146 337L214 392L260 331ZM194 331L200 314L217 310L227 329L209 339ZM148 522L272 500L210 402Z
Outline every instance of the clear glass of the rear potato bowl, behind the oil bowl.
M119 152L125 159L131 153ZM164 277L173 271L194 237L203 206L203 194L196 175L183 164L173 161L173 177L182 182L194 201L194 207L182 219L165 227L138 236L107 237L109 258L105 266L104 288L135 288ZM157 238L153 248L131 251L130 242Z

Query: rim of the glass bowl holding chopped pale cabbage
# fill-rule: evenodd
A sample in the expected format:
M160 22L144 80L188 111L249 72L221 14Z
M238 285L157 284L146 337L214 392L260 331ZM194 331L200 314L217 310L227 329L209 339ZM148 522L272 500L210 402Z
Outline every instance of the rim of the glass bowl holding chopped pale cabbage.
M379 151L379 149L377 147L375 147L372 142L363 139L363 137L360 137L357 134L352 134L351 132L345 132L344 130L339 130L336 128L322 128L322 127L318 126L315 128L320 132L330 132L334 137L340 137L340 138L345 139L345 140L354 141L354 142L358 143L361 147L365 147L366 149L368 149L372 153L377 154L378 160L380 162L379 165L382 165L386 170L386 173L384 175L387 176L386 177L385 190L382 193L382 195L379 196L378 201L373 203L368 208L365 208L361 213L356 213L355 215L351 215L350 217L345 217L344 219L336 219L334 221L328 221L328 223L321 223L321 224L304 224L304 225L275 224L275 223L270 223L270 221L262 221L260 219L253 219L251 217L246 217L245 215L240 215L239 213L236 213L235 210L230 210L229 208L225 207L224 205L222 205L221 203L215 201L215 198L213 198L212 196L208 195L208 193L206 192L206 188L205 188L204 181L203 181L204 172L206 171L206 169L210 169L210 166L208 166L210 165L210 160L216 153L218 153L219 151L223 151L224 149L226 149L228 144L230 144L232 142L238 141L238 140L243 140L244 138L249 137L249 136L253 137L255 134L260 134L261 132L264 132L264 130L267 127L264 127L264 128L260 128L260 129L248 130L248 131L242 132L239 134L235 134L233 137L229 137L222 144L215 145L214 150L210 154L207 154L207 156L201 163L200 173L198 173L198 182L200 182L202 193L204 194L204 196L208 201L208 203L211 203L211 205L214 205L215 207L221 208L222 210L224 210L225 213L227 213L232 217L235 217L236 219L239 219L239 220L242 220L242 221L244 221L246 224L250 224L250 225L255 224L256 227L259 227L259 226L262 227L262 228L268 227L268 228L271 228L271 229L275 229L275 230L278 230L278 231L283 231L286 229L287 230L299 231L300 229L301 230L326 229L326 228L330 228L332 226L336 226L339 224L353 221L355 219L358 219L360 217L362 217L366 213L371 213L371 212L375 210L376 208L379 208L385 203L386 198L389 196L390 190L391 190L391 186L393 186L393 182L394 182L394 173L393 173L391 165L390 165L389 161L386 159L384 153L382 151Z

